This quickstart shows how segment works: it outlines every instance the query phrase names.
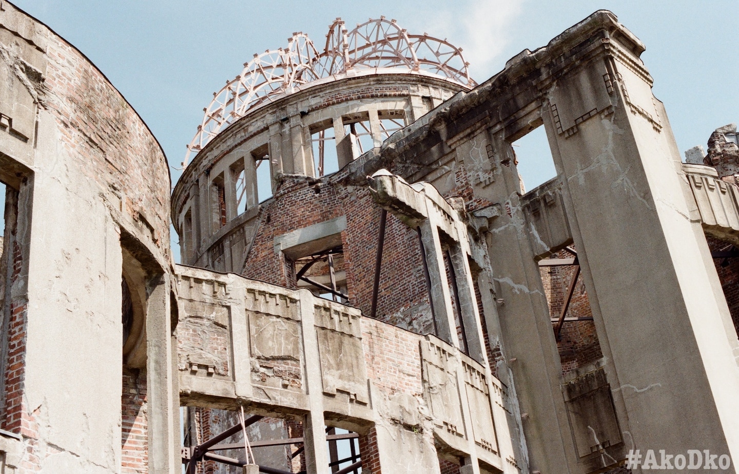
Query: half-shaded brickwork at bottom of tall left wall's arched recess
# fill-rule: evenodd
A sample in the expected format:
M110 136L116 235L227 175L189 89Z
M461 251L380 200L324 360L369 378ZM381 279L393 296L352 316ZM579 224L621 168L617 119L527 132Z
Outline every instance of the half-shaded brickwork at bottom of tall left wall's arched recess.
M146 373L143 371L123 368L120 414L120 472L146 474L149 472L149 439Z

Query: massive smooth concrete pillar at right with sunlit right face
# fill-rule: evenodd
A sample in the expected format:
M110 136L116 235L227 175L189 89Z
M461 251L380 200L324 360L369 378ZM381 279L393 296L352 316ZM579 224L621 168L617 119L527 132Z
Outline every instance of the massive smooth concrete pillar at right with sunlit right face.
M608 56L558 81L545 126L599 340L610 348L609 380L639 420L621 429L642 450L738 459L736 336L649 75L636 57ZM607 106L572 123L576 97ZM675 413L684 429L664 430L660 420Z

